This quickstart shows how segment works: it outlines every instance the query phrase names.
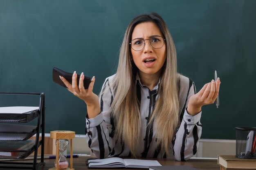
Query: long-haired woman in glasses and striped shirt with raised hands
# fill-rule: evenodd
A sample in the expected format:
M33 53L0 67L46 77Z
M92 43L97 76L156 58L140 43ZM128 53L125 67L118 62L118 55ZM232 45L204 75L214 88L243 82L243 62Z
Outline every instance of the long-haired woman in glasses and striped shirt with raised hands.
M60 77L87 105L86 139L99 158L195 155L202 133L201 108L213 104L220 79L196 93L191 79L177 73L176 51L164 20L157 13L134 18L124 35L117 73L106 78L99 97Z

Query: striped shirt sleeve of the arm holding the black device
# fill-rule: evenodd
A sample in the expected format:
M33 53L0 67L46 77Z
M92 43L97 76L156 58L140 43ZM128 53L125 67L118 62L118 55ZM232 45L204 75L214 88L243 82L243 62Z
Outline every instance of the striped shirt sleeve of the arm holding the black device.
M112 138L115 127L110 111L113 92L109 86L109 78L105 80L99 96L101 113L92 119L86 117L86 140L94 155L100 159L108 157L115 146Z

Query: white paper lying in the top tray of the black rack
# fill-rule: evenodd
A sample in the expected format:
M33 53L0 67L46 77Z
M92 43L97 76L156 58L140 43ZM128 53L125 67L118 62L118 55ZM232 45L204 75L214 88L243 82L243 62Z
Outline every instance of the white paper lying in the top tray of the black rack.
M39 107L31 107L31 106L11 106L11 107L0 107L1 113L14 113L14 114L22 114L31 112L33 110L38 110Z

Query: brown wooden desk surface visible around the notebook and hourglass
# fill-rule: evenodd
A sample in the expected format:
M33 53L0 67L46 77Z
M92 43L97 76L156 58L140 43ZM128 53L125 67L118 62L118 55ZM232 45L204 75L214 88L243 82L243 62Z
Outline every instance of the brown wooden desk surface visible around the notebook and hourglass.
M86 159L88 159L88 158L90 158L90 157L79 156L79 158L73 158L73 168L75 170L88 170L88 167L85 164ZM70 163L70 159L67 159L67 160ZM179 162L179 161L175 161L175 160L171 160L171 159L152 159L152 160L159 161L159 163L162 166L185 165L185 166L191 166L193 168L197 168L199 170L219 170L220 169L220 166L218 165L217 160L211 160L211 159L189 159L186 162ZM54 167L54 161L55 161L55 159L45 159L45 166L40 166L38 168L38 170L48 170L49 168ZM27 161L15 161L15 162L28 162L28 160ZM90 169L90 170L97 170L97 169ZM100 169L100 170L108 170L108 169ZM111 169L111 170L113 170L113 169ZM115 170L117 170L117 169L115 169Z

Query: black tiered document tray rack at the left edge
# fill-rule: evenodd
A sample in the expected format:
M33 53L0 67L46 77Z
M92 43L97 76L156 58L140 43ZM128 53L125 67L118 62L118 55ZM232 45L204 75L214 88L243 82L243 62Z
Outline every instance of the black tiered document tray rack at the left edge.
M17 96L40 96L39 106L3 106L0 107L0 169L31 169L39 170L44 162L45 141L45 95L44 93L15 93L0 92L0 95ZM29 97L30 96L30 97ZM31 101L31 100L30 100ZM30 105L30 106L29 106ZM33 125L22 125L16 123L27 123L34 119ZM37 119L37 121L36 121ZM32 125L32 124L31 124ZM41 140L39 135L41 132ZM35 140L29 139L35 135ZM40 161L37 161L38 148L41 146ZM33 162L15 162L5 159L24 159L34 153Z

